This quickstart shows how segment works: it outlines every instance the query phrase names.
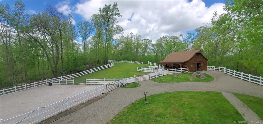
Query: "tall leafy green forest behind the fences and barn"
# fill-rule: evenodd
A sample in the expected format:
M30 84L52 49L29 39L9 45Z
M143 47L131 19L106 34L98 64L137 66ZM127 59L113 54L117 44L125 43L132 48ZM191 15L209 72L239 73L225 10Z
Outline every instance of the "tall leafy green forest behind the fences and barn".
M144 63L163 60L171 52L200 49L209 66L263 76L263 2L226 1L226 13L195 33L163 36L155 43L139 34L123 35L118 4L98 9L90 21L73 24L73 17L47 5L28 14L23 2L1 4L1 88L73 74L107 64L107 60ZM245 10L245 11L244 11ZM114 37L121 34L120 37ZM78 42L81 41L81 42Z

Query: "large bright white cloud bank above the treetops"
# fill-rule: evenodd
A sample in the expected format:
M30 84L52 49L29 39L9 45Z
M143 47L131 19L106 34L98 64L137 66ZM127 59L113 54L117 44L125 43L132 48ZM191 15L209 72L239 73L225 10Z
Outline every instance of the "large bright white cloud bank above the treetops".
M188 30L210 22L215 10L222 14L223 3L215 3L209 8L203 1L114 1L119 5L122 17L118 17L124 34L133 32L142 38L150 38L154 42L164 35L179 36ZM113 1L83 1L74 6L74 13L80 14L84 20L90 20L98 9ZM115 36L117 37L117 36Z

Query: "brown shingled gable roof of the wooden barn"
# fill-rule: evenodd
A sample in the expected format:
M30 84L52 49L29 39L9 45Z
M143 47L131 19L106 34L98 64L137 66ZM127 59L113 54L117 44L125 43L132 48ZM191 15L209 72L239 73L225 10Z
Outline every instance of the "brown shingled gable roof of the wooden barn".
M195 55L195 53L202 54L202 51L198 49L198 50L192 50L192 51L172 52L163 61L160 61L158 63L183 63L183 62L189 61Z

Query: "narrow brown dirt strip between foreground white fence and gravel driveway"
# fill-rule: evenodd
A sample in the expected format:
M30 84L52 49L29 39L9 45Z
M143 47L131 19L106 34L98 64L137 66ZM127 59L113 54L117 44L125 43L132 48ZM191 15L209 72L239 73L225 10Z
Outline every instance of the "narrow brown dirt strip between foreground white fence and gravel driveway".
M103 95L100 95L100 96L98 96L98 97L95 97L95 98L93 98L92 100L86 101L85 103L81 103L81 104L79 104L79 105L77 105L77 106L74 106L74 107L70 108L69 110L66 110L66 111L61 112L61 113L59 113L59 114L57 114L57 115L55 115L55 116L52 116L52 117L50 117L50 118L48 118L48 119L46 119L46 120L43 120L43 121L41 121L41 122L38 123L38 124L52 123L52 122L54 122L54 121L56 121L56 120L58 120L58 119L60 119L60 118L62 118L62 117L64 117L64 116L66 116L66 115L69 115L70 113L73 113L73 112L75 112L75 111L78 111L78 110L80 110L81 108L83 108L83 107L85 107L85 106L87 106L87 105L89 105L89 104L91 104L91 103L93 103L93 102L96 102L96 101L100 100L101 98L103 98L103 97L105 97L105 96L107 96L107 93L104 93Z

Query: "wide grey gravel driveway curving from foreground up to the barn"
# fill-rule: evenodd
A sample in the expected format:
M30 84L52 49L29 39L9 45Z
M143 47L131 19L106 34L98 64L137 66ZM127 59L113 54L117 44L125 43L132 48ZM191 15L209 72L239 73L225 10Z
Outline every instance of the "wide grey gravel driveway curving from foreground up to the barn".
M157 83L141 81L137 88L117 88L108 95L76 112L73 112L53 123L107 123L124 107L132 102L156 93L171 91L219 91L235 92L263 98L263 86L242 81L222 72L205 71L215 79L211 82Z

